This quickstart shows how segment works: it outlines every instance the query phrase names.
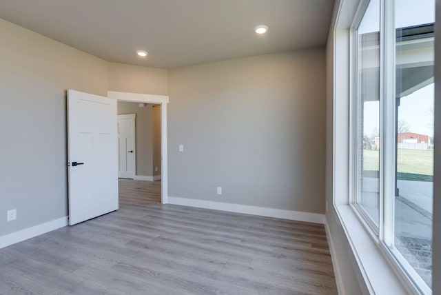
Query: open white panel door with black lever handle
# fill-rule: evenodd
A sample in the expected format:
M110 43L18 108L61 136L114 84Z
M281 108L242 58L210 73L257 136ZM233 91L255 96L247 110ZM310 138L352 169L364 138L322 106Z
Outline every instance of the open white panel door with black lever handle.
M116 99L68 90L69 225L118 210Z

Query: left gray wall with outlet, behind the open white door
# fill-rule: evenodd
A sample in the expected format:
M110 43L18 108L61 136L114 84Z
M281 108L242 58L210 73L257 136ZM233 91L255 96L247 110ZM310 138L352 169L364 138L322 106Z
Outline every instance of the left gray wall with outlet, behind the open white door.
M0 36L3 236L68 214L66 90L106 95L108 65L2 19Z

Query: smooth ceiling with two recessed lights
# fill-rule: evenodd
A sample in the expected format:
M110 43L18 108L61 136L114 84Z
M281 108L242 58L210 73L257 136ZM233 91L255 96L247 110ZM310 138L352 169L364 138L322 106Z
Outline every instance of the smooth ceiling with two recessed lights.
M334 0L1 0L0 18L107 61L178 68L325 45ZM269 26L258 36L253 29ZM136 50L146 50L145 59Z

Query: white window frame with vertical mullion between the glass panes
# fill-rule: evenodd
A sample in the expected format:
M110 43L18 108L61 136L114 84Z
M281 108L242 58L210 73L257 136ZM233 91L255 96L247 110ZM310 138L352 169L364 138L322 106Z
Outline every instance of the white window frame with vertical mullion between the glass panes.
M417 274L394 245L396 183L396 28L394 1L380 1L380 191L378 227L358 204L360 101L358 99L358 27L371 0L361 0L349 28L349 205L376 243L387 263L413 294L431 294L432 289ZM387 63L385 62L387 61ZM362 135L361 135L362 136ZM385 161L388 159L388 161ZM392 159L392 160L391 160Z

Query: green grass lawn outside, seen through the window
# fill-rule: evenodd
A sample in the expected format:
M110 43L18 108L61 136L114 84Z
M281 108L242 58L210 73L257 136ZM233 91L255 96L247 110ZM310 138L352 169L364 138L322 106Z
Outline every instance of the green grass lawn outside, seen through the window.
M363 150L363 170L378 171L378 150ZM433 150L398 149L398 179L433 181Z

